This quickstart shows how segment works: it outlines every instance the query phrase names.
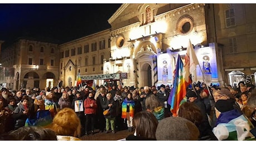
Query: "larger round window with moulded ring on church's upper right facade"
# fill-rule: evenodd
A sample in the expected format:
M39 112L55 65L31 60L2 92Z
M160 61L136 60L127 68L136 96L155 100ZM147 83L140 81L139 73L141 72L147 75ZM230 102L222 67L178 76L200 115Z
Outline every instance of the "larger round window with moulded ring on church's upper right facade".
M186 35L191 32L193 27L193 20L190 17L183 17L178 21L177 31L181 35Z

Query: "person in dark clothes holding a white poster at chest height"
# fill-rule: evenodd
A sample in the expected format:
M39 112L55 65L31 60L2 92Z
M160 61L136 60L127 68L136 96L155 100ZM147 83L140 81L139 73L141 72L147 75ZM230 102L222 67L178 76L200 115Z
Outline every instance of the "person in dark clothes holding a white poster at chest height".
M76 92L76 97L75 99L73 99L71 107L73 110L75 110L76 115L79 117L80 122L81 122L81 134L84 135L85 134L85 109L83 107L83 102L85 100L83 99L83 97L80 94L80 91Z

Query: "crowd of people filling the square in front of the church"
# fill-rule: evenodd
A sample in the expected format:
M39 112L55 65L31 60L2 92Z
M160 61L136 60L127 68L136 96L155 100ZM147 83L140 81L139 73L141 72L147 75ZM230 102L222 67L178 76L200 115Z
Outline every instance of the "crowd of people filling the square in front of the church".
M163 84L157 88L101 85L96 90L90 86L18 91L2 88L1 138L80 140L99 129L100 133L134 131L125 140L254 140L253 85L240 82L238 88L220 88L199 82L192 87L187 89L188 101L180 105L178 116L172 116L167 102L171 88ZM31 122L41 111L49 112L47 125ZM13 137L17 133L24 136ZM47 135L54 136L47 139Z

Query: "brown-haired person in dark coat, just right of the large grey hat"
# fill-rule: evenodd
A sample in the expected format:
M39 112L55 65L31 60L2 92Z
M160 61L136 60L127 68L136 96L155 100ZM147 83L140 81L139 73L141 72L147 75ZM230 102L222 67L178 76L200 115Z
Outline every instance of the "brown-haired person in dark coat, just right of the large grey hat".
M213 129L209 125L209 122L203 119L203 115L201 114L199 107L193 102L184 102L181 104L178 116L193 122L193 124L198 127L200 132L199 140L218 140L212 132Z

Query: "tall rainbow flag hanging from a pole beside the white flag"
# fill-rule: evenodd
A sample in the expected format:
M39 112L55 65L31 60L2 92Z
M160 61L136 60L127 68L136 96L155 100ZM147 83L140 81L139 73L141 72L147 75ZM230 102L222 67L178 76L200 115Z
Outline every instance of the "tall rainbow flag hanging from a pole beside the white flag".
M173 89L168 98L168 104L171 105L171 112L173 116L177 116L180 105L186 101L186 87L185 79L183 78L183 62L178 55L176 68L174 70Z

